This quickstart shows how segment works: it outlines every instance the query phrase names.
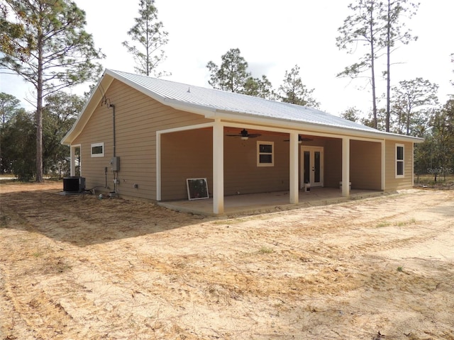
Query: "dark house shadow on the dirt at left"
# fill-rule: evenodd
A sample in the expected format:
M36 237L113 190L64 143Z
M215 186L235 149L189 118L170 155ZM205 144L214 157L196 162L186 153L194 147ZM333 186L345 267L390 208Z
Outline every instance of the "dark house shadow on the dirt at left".
M207 220L153 203L62 196L56 190L1 194L1 227L38 232L76 246L165 232Z

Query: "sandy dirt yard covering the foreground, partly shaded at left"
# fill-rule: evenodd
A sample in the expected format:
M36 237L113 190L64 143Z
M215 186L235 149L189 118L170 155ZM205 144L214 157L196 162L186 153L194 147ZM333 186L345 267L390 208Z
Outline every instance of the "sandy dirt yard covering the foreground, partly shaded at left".
M1 184L0 339L454 339L454 191L212 218Z

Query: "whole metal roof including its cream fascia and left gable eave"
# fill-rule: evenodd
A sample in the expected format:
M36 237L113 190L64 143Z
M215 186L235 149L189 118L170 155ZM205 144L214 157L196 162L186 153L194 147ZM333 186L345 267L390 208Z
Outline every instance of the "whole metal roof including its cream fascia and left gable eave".
M279 101L234 94L201 86L177 83L175 81L132 74L106 69L99 79L95 91L87 101L82 113L71 130L63 137L62 144L70 145L82 132L87 121L94 113L96 105L101 102L104 91L111 81L118 79L143 94L178 110L204 115L206 118L221 118L240 121L257 121L267 125L280 125L297 128L297 130L337 133L365 138L391 139L411 142L422 142L422 138L383 132L368 126L354 123L336 115ZM104 85L104 86L103 86ZM100 90L98 91L97 89ZM299 125L299 126L298 126ZM309 131L308 130L308 131Z

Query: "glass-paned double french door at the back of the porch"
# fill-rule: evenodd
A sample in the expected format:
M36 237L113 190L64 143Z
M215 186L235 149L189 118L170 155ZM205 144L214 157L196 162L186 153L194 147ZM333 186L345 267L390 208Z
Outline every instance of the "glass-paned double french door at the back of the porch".
M323 186L323 147L301 146L300 187Z

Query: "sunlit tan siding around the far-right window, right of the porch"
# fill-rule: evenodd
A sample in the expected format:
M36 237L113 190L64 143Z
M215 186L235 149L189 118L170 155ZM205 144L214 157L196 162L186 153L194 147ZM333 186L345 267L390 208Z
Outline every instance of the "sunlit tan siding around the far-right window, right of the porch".
M396 145L404 145L404 177L396 178ZM387 140L385 143L385 190L392 191L413 186L413 143Z

